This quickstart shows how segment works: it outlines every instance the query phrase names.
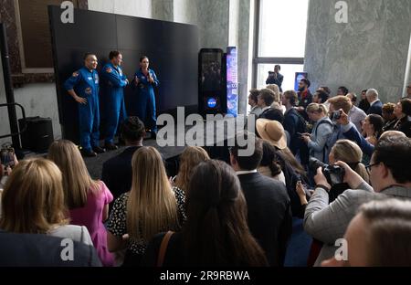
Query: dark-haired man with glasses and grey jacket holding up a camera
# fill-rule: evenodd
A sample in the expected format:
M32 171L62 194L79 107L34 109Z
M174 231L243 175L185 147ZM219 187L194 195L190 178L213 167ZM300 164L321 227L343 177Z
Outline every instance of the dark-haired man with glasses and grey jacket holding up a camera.
M386 137L375 147L369 171L368 185L348 164L338 162L344 168L344 182L351 189L328 206L331 185L319 168L315 176L317 184L305 210L304 228L312 237L321 240L324 246L316 264L330 259L336 248L334 243L342 238L357 210L366 202L384 200L390 197L411 199L411 139Z

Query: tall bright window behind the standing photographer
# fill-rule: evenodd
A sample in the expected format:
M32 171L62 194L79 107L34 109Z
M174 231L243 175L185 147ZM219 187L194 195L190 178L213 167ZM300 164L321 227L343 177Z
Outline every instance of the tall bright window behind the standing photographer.
M293 90L295 72L304 71L309 0L256 0L256 5L253 87L264 88L279 64L282 90Z

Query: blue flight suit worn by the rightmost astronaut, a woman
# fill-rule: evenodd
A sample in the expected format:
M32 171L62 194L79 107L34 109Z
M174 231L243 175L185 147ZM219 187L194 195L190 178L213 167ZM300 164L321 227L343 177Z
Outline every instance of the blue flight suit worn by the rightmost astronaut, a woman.
M154 80L153 83L148 81L147 77L142 73L142 69L138 69L134 75L134 79L139 79L139 84L137 85L137 117L144 122L146 128L150 128L152 132L157 132L154 87L157 87L160 82L152 69L148 69L148 71L150 77ZM147 110L149 118L147 118Z

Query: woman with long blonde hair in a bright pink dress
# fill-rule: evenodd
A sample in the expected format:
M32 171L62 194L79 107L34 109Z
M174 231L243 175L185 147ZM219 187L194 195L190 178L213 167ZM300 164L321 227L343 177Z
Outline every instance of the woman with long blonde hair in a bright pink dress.
M66 140L53 142L48 159L58 165L63 174L65 203L70 224L86 226L101 263L113 266L114 257L107 248L107 233L103 222L109 216L113 197L102 181L91 179L78 147Z

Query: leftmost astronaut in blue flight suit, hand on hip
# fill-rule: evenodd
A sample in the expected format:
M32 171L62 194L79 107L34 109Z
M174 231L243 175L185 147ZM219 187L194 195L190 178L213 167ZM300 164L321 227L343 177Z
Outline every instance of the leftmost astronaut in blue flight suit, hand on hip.
M75 71L64 83L68 94L79 103L79 135L81 153L96 156L100 148L99 74L94 54L84 56L84 67Z

